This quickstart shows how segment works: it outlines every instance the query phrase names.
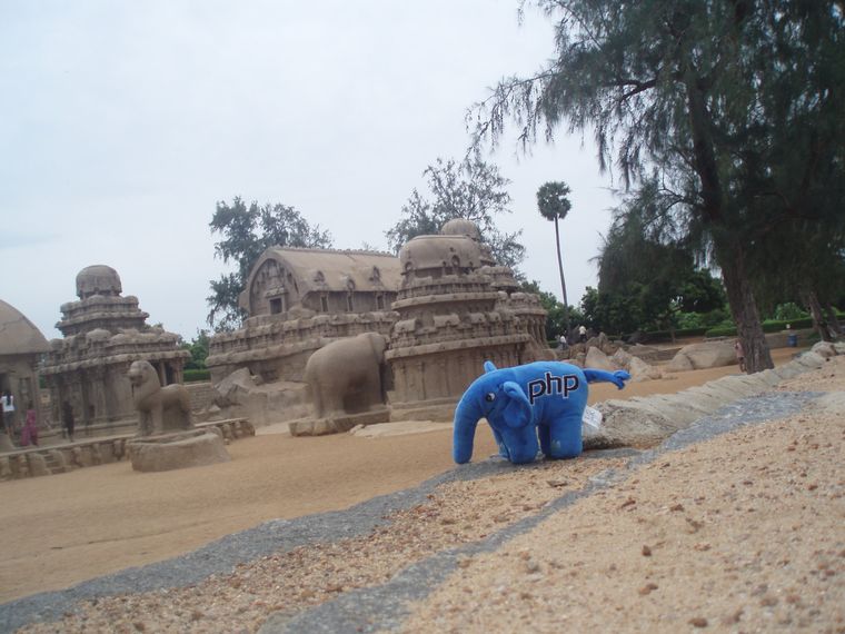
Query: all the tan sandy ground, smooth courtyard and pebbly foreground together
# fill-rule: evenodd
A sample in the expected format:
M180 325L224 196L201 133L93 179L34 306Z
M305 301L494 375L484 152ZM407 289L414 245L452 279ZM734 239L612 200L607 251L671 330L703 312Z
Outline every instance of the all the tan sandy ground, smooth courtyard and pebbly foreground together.
M795 350L775 353L776 363L783 363ZM842 358L837 360L841 361ZM813 384L811 377L798 387L808 389L815 385L817 389L842 389L845 385L845 367L838 363L832 368L833 378L816 377L816 383ZM735 372L734 367L684 373L672 380L633 384L622 393L612 386L593 386L592 400L677 392ZM825 380L827 384L833 382L833 386L825 387ZM519 620L527 618L534 623L538 612L560 615L559 611L554 610L555 601L559 601L559 597L556 598L554 593L545 596L535 592L537 588L550 585L560 593L569 586L580 588L587 579L590 590L586 597L584 593L579 595L579 603L596 605L596 602L608 601L608 593L617 596L618 584L605 584L603 581L605 576L613 579L617 573L619 579L635 586L634 604L617 601L614 605L618 607L618 613L642 608L646 602L656 604L659 603L658 600L668 596L668 603L663 604L663 607L658 605L648 613L649 618L656 620L652 623L663 623L660 618L664 613L660 610L669 611L669 605L680 601L675 596L676 592L666 592L667 586L678 587L678 569L683 569L680 557L686 553L698 557L696 561L699 563L710 562L709 567L690 563L693 567L687 572L695 583L682 584L689 585L687 594L700 596L705 591L719 594L714 592L714 584L730 582L729 575L745 571L743 562L750 557L747 542L755 534L749 523L756 523L767 531L777 528L774 533L767 533L769 541L772 535L776 535L776 544L787 543L788 537L797 536L799 541L803 537L806 548L809 548L799 554L804 566L802 569L796 571L782 564L781 567L788 569L779 577L773 576L772 584L766 581L768 576L764 578L757 575L759 583L748 590L750 593L764 585L774 587L773 584L777 582L781 590L772 591L775 593L772 597L768 596L768 591L758 592L762 597L757 602L759 606L772 608L769 612L773 614L777 612L774 610L777 606L787 612L793 607L797 610L796 606L805 610L803 616L797 613L791 616L792 612L781 615L778 612L778 616L773 616L776 621L772 623L779 620L784 625L789 625L806 621L812 625L817 622L819 614L831 617L814 607L813 602L791 600L788 588L783 590L786 588L786 582L782 577L796 587L816 581L838 584L835 586L838 595L833 595L842 597L843 593L841 573L845 562L845 536L842 526L845 515L842 493L845 483L841 470L842 416L805 418L794 423L778 423L778 426L768 430L765 430L766 427L743 430L749 436L742 440L719 438L693 447L687 450L688 455L673 458L670 467L648 467L638 476L637 482L625 485L628 488L620 487L585 501L585 505L593 507L586 508L584 513L565 514L568 517L566 522L576 522L577 526L549 527L544 529L543 535L520 537L518 543L508 546L507 554L490 555L490 561L467 562L464 574L450 581L426 605L415 606L409 630L424 631L424 624L436 620L439 620L438 630L511 630L519 625ZM291 438L285 434L262 434L230 445L232 462L223 465L161 474L137 474L123 463L49 478L0 483L3 498L0 531L6 537L0 546L0 597L8 601L39 591L66 587L108 572L193 549L217 537L267 519L345 508L375 495L412 486L451 467L448 426L430 427L433 430L428 433L386 434L377 437L338 435ZM822 438L826 438L824 450L816 450L819 446L817 440ZM708 448L710 446L713 448ZM795 448L789 449L791 446ZM479 428L476 456L494 452L489 433ZM746 464L748 455L755 458L753 465ZM787 456L788 460L782 473L772 465L783 462L783 456ZM803 460L801 466L796 466L795 458L798 456ZM165 631L221 631L219 627L226 618L231 618L231 623L238 624L238 627L252 631L274 610L301 608L350 587L384 583L411 561L444 547L478 539L479 534L484 534L485 526L493 531L536 512L547 498L559 495L560 487L583 485L589 475L607 468L606 463L607 460L549 463L534 469L515 470L508 477L454 483L441 487L443 491L433 496L427 507L400 514L389 531L379 532L356 544L298 548L291 553L265 557L227 578L209 579L196 587L170 593L170 610L167 612L169 620L159 622L158 626ZM733 470L727 468L728 463L733 465ZM754 477L749 478L748 474L754 474ZM727 477L728 475L736 477ZM536 492L530 498L525 496L524 478L541 483L541 486L535 487ZM744 484L746 479L752 484ZM798 485L795 485L796 482ZM781 488L787 484L794 495L779 495ZM696 492L702 492L702 495ZM775 501L789 501L795 496L794 505L788 508L778 508L774 504ZM629 503L628 499L634 502ZM728 504L737 508L728 509ZM746 505L754 511L747 511ZM672 507L677 508L672 511ZM765 513L766 516L755 513ZM816 522L812 513L821 514L825 521ZM609 516L613 516L614 523L609 523ZM725 518L730 518L728 524L725 524ZM618 527L614 527L616 524ZM793 529L792 526L798 528ZM804 527L812 527L813 535L807 535L806 528L802 529ZM577 541L578 537L573 537L573 534L590 535L590 538L581 537ZM669 535L673 537L669 538ZM743 537L744 535L747 536ZM677 536L683 539L676 538ZM732 538L725 542L726 536ZM558 539L554 548L544 547L538 551L530 545L531 539L549 542L553 538ZM625 548L608 547L610 544L618 546L623 538ZM573 541L577 542L578 548L570 547ZM737 546L745 553L745 558L738 551L730 551L723 544L734 542L740 545L746 543L742 547ZM718 544L718 547L714 544ZM763 553L768 552L764 546L756 542L752 545L752 551L760 553L750 557L756 562L754 566L758 571L762 561L767 565L777 564L777 561L768 562L763 557ZM646 547L650 555L645 555ZM577 561L546 557L549 552L566 553ZM656 556L658 554L665 556ZM506 557L508 565L496 557ZM332 562L330 566L326 565L327 558ZM643 562L652 567L645 569ZM665 566L659 567L658 562ZM278 574L282 568L285 574ZM586 575L580 579L576 578L577 574L570 579L565 576L573 572L580 574L580 569ZM496 575L501 576L501 571L516 571L518 575L505 582L497 581ZM560 579L555 576L558 571L563 575ZM813 574L812 571L816 573ZM276 581L269 585L262 583L261 579L266 582L267 575ZM803 582L802 575L806 577ZM548 584L551 577L555 583ZM675 581L666 581L673 578ZM687 578L686 573L684 578ZM539 583L544 579L544 583ZM503 598L503 593L497 588L503 587L503 583L510 585L517 582L534 585L523 593L526 594L526 597L519 600L523 604L515 607L510 601L513 597L509 595ZM659 592L662 583L663 593ZM604 588L603 584L607 587ZM652 588L652 585L657 587ZM475 592L481 594L475 595ZM488 594L485 595L484 592ZM793 591L793 594L796 592L797 590ZM737 594L740 595L742 592ZM213 605L209 603L209 596L215 597L210 602ZM460 598L456 600L456 596ZM473 611L475 616L467 622L461 618L460 611L454 607L465 604L469 596L474 601L481 601L483 597L489 600L489 608L484 612ZM516 593L515 596L521 595ZM814 596L824 594L816 593ZM119 631L122 626L127 631L138 630L138 624L145 626L145 620L150 614L161 612L161 601L158 593L155 596L101 600L97 606L91 606L86 612L84 620L69 616L57 624L54 630ZM739 602L739 598L736 601ZM839 605L844 604L845 602L839 602ZM511 623L513 627L504 627L501 621L483 621L481 616L493 614L496 605L513 614L516 620ZM720 608L717 614L700 608L703 615L697 616L697 613L693 614L693 607L695 606L689 607L692 612L686 620L677 621L680 618L677 616L674 621L666 621L666 631L677 631L679 625L683 628L693 621L702 623L698 620L705 620L708 624L722 623L736 614L728 606ZM828 623L834 631L835 616L832 617L833 623ZM740 617L742 614L738 618ZM802 617L804 621L801 621ZM579 616L576 612L567 618L573 618L571 623L590 625L579 620L583 615ZM786 623L786 618L793 621ZM604 623L610 627L612 622ZM155 626L156 623L151 625ZM49 627L47 630L53 631ZM543 631L544 627L539 630Z

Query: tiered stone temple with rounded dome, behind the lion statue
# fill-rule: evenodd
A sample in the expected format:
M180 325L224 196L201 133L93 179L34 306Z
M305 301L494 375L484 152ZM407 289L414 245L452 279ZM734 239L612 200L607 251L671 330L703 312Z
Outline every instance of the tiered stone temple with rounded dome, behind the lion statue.
M178 347L179 336L147 325L149 315L138 298L121 293L120 276L111 267L89 266L77 275L79 300L61 306L56 327L64 338L50 341L41 369L53 420L61 420L64 400L73 407L77 426L135 420L126 373L136 360L152 364L161 385L182 383L190 353Z

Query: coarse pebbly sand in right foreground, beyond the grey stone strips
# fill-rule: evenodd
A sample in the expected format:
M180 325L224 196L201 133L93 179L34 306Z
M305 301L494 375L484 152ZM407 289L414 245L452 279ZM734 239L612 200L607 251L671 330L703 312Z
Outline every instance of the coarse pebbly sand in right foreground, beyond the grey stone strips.
M789 384L839 392L667 454L467 561L404 631L845 632L845 358Z

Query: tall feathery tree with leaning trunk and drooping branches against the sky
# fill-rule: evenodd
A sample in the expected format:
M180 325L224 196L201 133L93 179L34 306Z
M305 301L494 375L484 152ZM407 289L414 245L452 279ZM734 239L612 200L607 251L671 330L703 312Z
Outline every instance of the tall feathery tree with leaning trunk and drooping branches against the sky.
M521 126L525 145L538 129L554 138L560 123L594 129L599 165L615 161L626 187L654 170L660 204L722 270L749 372L772 367L749 278L757 224L754 188L736 196L748 167L743 150L772 121L760 96L783 103L841 103L837 82L814 96L787 76L813 76L813 40L841 70L843 11L836 0L539 0L556 20L556 57L528 78L505 79L470 111L476 141L496 142L506 121ZM767 50L789 44L786 62ZM838 67L837 67L838 65ZM819 85L824 73L819 76ZM829 77L828 77L829 79ZM797 99L797 101L795 101ZM788 108L784 111L788 112ZM831 110L832 111L832 110ZM825 108L824 115L831 113ZM788 117L785 121L789 122ZM763 166L765 172L766 166Z

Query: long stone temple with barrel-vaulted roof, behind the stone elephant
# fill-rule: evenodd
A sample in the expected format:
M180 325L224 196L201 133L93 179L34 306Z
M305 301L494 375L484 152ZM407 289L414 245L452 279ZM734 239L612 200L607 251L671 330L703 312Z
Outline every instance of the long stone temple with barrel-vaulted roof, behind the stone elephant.
M388 254L270 247L239 297L243 327L211 339L212 383L239 368L266 383L300 382L308 357L329 340L388 335L399 279Z

